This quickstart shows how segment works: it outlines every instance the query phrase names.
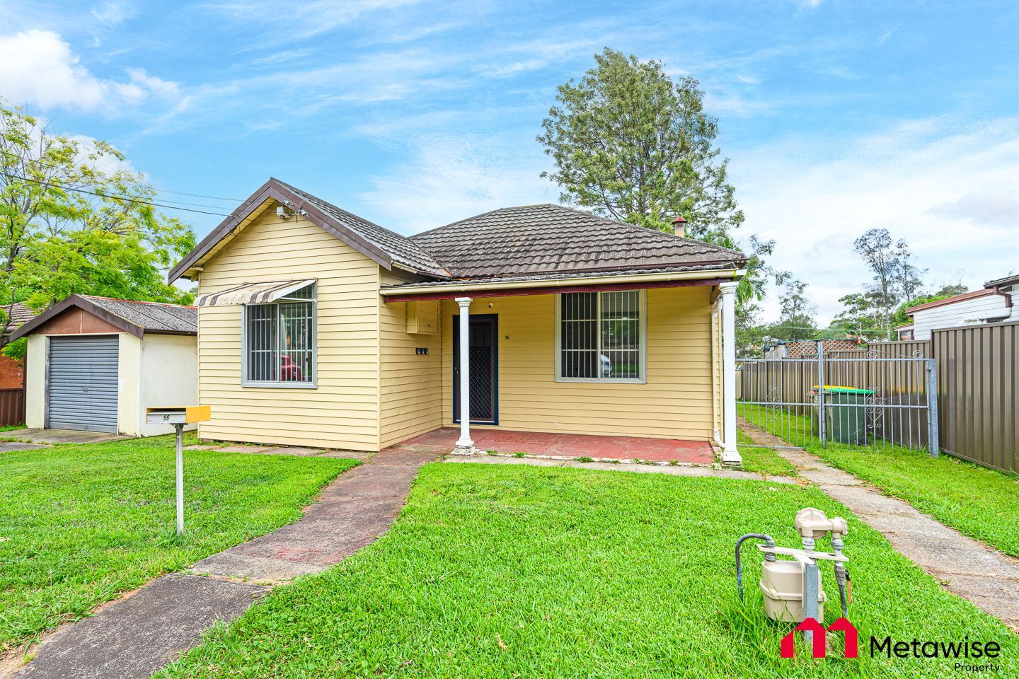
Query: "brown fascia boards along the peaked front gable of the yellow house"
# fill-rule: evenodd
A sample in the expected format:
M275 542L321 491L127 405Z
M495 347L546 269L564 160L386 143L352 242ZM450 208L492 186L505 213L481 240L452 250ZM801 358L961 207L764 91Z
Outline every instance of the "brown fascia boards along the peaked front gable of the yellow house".
M308 214L312 223L319 226L330 235L335 236L378 265L385 267L386 269L392 269L392 258L388 252L367 238L364 238L360 234L356 233L353 229L347 228L343 224L340 224L336 220L323 214L318 210L318 208L307 203L299 195L291 193L289 190L281 186L275 179L269 179L267 182L262 184L258 190L252 193L251 197L242 203L236 210L231 212L229 217L220 222L219 226L203 238L202 242L196 245L191 252L185 254L177 266L170 270L170 273L167 275L167 282L172 283L180 278L189 269L196 266L203 257L208 254L209 250L215 247L216 244L223 238L232 233L240 222L248 219L262 206L263 203L269 199L273 199L279 203L289 204L290 208L294 211L304 210Z

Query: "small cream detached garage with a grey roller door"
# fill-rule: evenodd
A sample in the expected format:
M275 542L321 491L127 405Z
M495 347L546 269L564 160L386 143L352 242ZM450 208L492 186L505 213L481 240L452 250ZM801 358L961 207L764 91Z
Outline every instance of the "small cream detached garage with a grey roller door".
M54 304L11 335L29 338L25 426L172 432L146 423L145 409L198 402L197 333L194 306L92 295Z

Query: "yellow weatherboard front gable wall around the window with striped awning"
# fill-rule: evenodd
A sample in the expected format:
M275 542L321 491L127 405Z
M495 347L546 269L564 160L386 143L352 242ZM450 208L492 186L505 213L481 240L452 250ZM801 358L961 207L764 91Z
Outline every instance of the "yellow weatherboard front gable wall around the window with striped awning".
M272 206L204 265L199 293L242 283L318 281L317 388L240 386L240 306L199 310L203 438L377 450L379 267L306 220Z

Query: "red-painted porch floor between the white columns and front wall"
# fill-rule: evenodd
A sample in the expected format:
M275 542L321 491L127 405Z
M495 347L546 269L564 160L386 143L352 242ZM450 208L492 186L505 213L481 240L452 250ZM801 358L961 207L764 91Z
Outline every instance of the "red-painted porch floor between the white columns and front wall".
M414 437L399 446L428 446L453 450L460 431L437 429ZM591 436L583 434L549 434L507 430L471 430L474 446L479 452L503 455L525 453L542 457L591 457L610 460L646 460L680 464L711 464L714 451L706 441L679 439L648 439L633 436Z

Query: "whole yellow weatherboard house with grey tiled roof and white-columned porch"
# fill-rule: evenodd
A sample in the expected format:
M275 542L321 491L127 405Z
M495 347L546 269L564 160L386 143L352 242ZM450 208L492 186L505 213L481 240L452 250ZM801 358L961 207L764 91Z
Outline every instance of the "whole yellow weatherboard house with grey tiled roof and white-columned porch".
M199 286L203 438L376 451L459 426L465 450L485 428L720 440L738 463L745 263L555 205L408 237L270 179L169 280Z

